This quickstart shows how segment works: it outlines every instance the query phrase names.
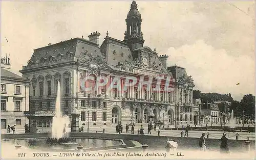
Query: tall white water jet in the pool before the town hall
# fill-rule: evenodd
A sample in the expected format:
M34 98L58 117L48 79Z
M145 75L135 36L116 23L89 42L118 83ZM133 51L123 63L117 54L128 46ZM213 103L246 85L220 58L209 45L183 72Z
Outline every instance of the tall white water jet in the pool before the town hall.
M55 115L52 120L52 137L47 138L47 143L67 143L69 138L69 117L62 115L60 108L60 84L58 81Z

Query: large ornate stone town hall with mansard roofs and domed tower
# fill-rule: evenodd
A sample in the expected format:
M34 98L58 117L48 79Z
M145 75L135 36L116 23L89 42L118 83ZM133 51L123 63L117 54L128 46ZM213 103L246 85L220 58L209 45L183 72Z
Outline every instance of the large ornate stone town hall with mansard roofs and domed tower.
M167 66L168 56L143 45L142 19L135 1L125 21L123 40L106 32L99 44L100 33L93 32L89 40L74 38L34 49L27 66L20 70L23 77L31 81L29 111L24 114L32 132L50 130L58 81L62 114L69 116L72 131L88 125L147 125L150 114L154 115L155 122L164 122L165 126L199 123L200 108L192 103L193 79L185 68ZM153 90L159 75L172 77L173 90ZM89 93L83 91L80 84L80 79L86 76L95 77L89 85L99 76L108 77L110 82L115 76L121 76L121 86L127 76L144 76L144 81L153 78L153 85L151 90L146 90L146 85L139 89L137 84L127 91L116 88L108 91L103 86ZM163 79L161 87L164 85Z

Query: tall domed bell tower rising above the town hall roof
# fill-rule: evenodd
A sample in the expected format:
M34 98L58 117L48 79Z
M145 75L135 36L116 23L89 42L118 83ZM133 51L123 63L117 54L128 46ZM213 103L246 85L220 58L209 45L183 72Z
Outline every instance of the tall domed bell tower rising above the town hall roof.
M141 32L142 19L135 1L131 4L130 11L127 14L125 21L126 31L124 33L125 36L123 42L129 46L131 51L143 47L144 40Z

